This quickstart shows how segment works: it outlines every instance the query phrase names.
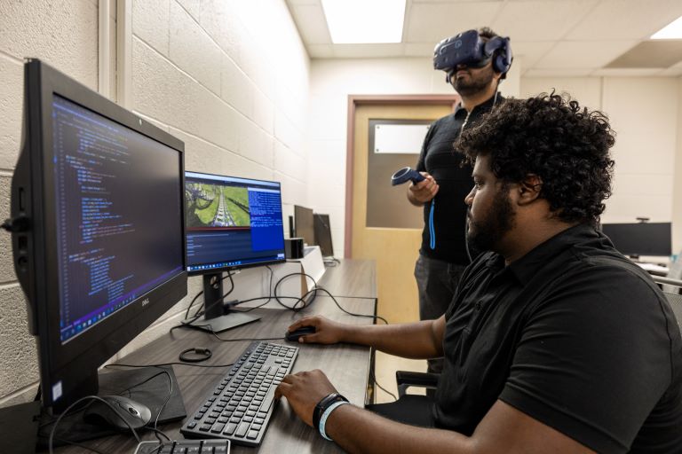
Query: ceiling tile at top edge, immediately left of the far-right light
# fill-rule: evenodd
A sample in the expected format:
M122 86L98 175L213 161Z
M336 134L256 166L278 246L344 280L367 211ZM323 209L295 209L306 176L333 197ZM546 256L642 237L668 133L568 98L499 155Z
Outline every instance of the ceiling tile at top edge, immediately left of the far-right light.
M680 0L602 0L566 38L648 39L680 15Z

